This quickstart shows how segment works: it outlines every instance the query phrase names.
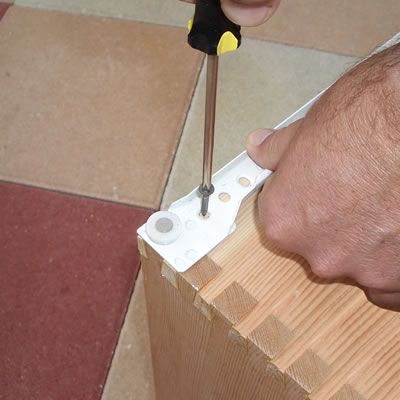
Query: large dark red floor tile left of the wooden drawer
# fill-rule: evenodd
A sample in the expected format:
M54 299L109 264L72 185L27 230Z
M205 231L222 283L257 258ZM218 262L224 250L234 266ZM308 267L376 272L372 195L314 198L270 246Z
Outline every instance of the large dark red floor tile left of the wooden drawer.
M0 399L98 399L150 212L0 183Z

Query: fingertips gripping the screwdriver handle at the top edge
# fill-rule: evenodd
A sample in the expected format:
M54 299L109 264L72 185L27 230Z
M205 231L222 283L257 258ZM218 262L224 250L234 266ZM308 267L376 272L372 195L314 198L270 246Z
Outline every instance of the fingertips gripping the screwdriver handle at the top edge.
M195 3L195 0L182 0ZM221 0L225 15L240 26L256 26L275 13L281 0Z

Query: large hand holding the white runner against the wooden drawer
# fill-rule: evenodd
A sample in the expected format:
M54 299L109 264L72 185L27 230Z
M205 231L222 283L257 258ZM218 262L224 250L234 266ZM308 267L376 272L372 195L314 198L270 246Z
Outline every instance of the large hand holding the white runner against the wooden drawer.
M400 45L344 75L304 119L253 132L247 150L275 171L259 197L267 236L400 311Z

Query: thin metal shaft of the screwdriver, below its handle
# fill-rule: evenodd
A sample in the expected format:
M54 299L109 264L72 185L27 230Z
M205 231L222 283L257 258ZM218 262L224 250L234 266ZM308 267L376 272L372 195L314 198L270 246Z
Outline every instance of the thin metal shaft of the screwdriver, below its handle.
M212 162L214 153L215 109L217 99L218 56L207 55L206 109L204 122L203 179L200 187L202 195L201 214L208 212L209 196L213 193Z

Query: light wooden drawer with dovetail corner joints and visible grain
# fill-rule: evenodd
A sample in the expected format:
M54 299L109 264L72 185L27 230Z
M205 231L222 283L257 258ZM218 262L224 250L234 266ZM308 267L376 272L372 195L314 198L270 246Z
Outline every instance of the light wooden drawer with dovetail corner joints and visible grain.
M185 273L141 247L157 399L400 399L400 314L272 246L255 199Z

